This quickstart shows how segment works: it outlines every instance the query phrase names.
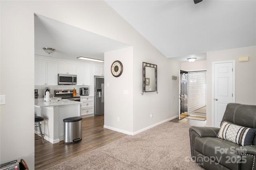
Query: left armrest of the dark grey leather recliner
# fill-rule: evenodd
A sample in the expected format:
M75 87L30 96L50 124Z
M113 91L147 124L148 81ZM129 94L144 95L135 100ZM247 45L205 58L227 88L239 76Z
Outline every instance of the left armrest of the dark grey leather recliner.
M196 137L218 137L220 128L217 127L197 127L189 128L191 156L194 158L194 141Z

